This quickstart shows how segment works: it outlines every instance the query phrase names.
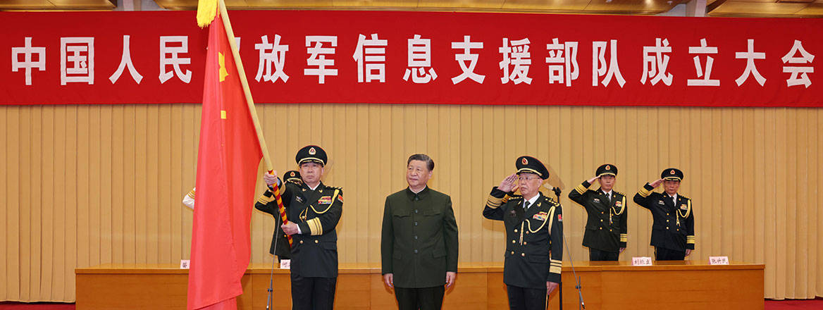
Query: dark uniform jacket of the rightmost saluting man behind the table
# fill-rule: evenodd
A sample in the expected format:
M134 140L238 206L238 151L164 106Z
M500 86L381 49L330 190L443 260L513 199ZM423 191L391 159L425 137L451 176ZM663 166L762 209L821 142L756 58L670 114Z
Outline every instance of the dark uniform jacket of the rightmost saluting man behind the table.
M638 205L652 211L653 247L683 251L695 249L695 212L691 200L677 195L677 204L666 192L652 192L654 187L646 183L635 194Z

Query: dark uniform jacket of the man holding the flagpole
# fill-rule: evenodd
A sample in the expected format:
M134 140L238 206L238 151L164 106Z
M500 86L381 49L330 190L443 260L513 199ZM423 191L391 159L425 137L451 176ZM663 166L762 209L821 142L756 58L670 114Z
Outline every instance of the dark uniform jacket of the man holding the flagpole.
M291 236L294 240L291 275L337 277L335 227L343 211L342 189L320 183L313 191L305 184L299 186L288 182L281 183L280 190L283 206L286 206L286 218L297 224L301 233ZM277 201L267 201L267 206L277 212Z

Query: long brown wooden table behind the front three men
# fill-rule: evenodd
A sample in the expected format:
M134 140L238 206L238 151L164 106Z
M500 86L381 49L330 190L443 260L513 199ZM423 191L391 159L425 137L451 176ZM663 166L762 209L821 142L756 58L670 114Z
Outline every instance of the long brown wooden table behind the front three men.
M763 265L707 261L659 261L655 266L579 261L586 308L597 309L763 309ZM239 309L265 309L271 265L251 264L243 276ZM394 295L375 264L341 264L335 309L397 308ZM172 264L105 264L77 268L77 310L184 309L188 270ZM289 271L274 271L272 309L291 309ZM577 309L578 294L569 265L563 266L565 310ZM557 309L558 294L550 298ZM639 305L642 305L640 307ZM508 309L503 267L461 263L457 284L447 289L444 309Z

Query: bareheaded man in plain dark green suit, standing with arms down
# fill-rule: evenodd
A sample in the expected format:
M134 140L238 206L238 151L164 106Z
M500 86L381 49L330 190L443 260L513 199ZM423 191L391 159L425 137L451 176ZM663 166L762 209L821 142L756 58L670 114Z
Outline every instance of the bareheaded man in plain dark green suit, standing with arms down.
M409 186L386 197L380 254L384 282L394 288L400 310L440 309L458 272L452 199L426 185L434 169L428 155L412 155Z

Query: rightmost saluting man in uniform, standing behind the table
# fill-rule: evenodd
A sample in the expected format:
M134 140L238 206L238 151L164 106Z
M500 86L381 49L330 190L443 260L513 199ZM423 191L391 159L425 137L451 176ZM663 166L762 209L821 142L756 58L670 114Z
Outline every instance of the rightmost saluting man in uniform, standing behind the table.
M695 211L691 200L677 193L682 180L682 171L668 168L635 194L635 202L652 211L651 245L657 261L682 261L695 249ZM664 192L652 192L660 183Z

